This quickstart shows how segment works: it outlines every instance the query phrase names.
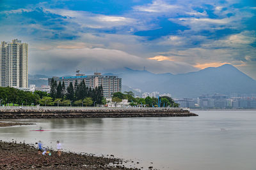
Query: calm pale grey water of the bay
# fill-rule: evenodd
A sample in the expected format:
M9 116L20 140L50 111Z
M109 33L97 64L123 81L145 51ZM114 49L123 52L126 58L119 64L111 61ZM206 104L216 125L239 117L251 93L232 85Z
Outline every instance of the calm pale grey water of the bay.
M256 111L194 112L199 117L4 120L36 125L0 128L0 138L52 147L59 139L66 150L113 154L144 169L256 169ZM31 131L39 126L51 131Z

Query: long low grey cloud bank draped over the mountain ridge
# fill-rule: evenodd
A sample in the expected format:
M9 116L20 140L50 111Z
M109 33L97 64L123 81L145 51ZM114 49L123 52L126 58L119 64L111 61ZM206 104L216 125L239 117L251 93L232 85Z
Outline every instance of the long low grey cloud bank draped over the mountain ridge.
M148 71L155 73L181 73L179 68L186 66L185 71L195 71L193 66L182 62L157 62L147 60L136 55L122 52L120 50L109 50L104 48L52 48L47 51L31 52L31 62L38 62L31 65L30 71L45 74L55 73L59 76L72 74L76 69L84 73L86 71L108 71L131 67L132 69L148 68Z

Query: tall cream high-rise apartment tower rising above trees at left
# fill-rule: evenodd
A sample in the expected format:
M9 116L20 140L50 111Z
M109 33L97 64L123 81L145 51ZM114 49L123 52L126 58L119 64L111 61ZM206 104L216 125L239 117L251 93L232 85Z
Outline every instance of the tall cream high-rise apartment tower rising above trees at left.
M0 86L28 88L28 43L1 42Z

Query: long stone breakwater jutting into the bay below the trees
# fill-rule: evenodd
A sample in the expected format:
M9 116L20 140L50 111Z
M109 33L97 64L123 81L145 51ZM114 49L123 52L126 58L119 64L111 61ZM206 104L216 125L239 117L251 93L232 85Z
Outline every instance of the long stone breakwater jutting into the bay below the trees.
M192 117L182 108L77 108L29 107L0 108L0 119L10 118L123 118L123 117Z

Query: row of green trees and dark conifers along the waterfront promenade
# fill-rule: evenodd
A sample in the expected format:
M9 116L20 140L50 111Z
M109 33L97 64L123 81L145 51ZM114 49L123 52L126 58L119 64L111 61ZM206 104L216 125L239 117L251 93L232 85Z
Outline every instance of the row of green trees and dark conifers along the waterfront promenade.
M35 91L26 92L13 87L0 87L0 104L4 106L31 106L40 104L40 106L96 106L97 104L107 104L103 97L102 86L95 89L88 88L84 80L81 83L75 81L74 86L70 83L65 88L64 83L58 83L51 80L51 92ZM133 92L116 92L113 94L112 102L122 102L127 99L131 106L143 105L147 107L178 107L171 97L134 97Z

